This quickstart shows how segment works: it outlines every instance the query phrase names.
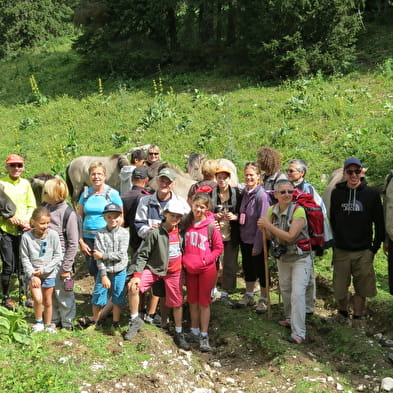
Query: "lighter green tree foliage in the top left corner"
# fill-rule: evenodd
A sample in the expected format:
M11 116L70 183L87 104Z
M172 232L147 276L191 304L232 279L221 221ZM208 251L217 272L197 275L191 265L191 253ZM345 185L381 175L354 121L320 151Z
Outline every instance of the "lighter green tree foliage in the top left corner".
M64 0L3 0L0 7L0 58L70 33L72 10Z

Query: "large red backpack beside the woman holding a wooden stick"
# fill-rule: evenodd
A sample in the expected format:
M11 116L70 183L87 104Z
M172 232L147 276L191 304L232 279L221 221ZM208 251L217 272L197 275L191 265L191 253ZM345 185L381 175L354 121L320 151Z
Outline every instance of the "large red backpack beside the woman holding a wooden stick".
M308 234L310 236L311 248L316 255L322 255L325 246L324 240L324 217L321 206L319 206L312 194L294 189L292 201L295 209L301 206L306 212Z

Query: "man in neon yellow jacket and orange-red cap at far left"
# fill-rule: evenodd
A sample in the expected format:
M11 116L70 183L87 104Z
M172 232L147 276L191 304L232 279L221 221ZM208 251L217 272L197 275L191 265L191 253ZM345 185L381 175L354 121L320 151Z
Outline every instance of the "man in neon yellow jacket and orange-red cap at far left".
M18 273L21 293L26 293L23 285L23 273L19 260L19 245L21 233L30 228L30 217L36 207L33 190L21 175L25 169L25 160L17 154L11 154L6 159L8 175L0 180L4 192L15 204L15 214L10 218L0 217L0 254L3 260L1 284L3 290L3 305L14 309L16 304L9 297L11 275Z

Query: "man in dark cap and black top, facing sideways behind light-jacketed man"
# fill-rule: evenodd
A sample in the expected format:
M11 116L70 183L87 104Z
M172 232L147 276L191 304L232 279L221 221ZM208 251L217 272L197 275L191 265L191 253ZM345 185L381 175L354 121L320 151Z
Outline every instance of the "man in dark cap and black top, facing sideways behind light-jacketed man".
M124 226L130 228L130 248L133 254L140 246L142 239L138 236L134 225L135 213L139 201L143 196L149 195L146 190L149 176L146 167L137 167L132 173L132 188L123 197Z

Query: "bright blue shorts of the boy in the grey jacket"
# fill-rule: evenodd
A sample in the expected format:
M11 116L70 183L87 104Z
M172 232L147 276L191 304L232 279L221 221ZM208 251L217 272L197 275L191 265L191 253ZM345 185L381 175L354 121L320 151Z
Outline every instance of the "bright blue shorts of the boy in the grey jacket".
M110 291L112 293L112 303L116 306L124 306L126 304L125 285L126 285L126 270L122 270L115 274L108 274L111 281ZM108 302L108 289L101 284L101 272L98 272L96 282L93 290L93 297L91 304L93 306L105 306Z

